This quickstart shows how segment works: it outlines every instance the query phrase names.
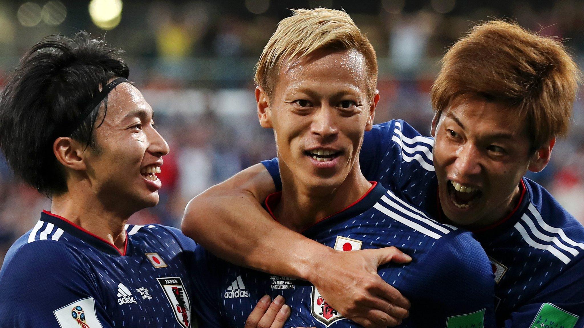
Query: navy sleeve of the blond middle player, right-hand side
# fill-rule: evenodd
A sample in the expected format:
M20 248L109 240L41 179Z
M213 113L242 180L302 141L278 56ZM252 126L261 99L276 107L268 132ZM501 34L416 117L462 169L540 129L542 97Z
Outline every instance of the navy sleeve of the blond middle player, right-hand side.
M451 232L436 243L412 273L416 295L424 295L410 298L416 305L410 316L421 321L416 326L495 327L495 278L481 245L469 232Z

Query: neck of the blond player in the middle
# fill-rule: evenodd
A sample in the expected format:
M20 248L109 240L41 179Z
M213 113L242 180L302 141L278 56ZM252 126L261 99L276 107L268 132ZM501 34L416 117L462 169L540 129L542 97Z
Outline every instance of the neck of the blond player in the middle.
M349 207L371 188L359 165L355 166L339 186L307 186L283 173L282 197L274 215L287 228L300 232Z

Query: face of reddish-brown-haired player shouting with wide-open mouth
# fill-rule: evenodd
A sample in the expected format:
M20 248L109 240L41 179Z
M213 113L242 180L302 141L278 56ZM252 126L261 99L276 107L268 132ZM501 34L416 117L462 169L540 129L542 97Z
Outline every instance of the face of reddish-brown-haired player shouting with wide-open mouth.
M543 169L551 152L549 144L548 153L546 146L530 152L524 122L507 106L484 100L445 110L433 135L440 204L460 225L486 226L509 214L527 169Z

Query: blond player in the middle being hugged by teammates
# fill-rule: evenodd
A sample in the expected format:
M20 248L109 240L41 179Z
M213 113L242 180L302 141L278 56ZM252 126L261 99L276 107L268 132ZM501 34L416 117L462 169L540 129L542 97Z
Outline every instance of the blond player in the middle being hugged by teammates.
M266 209L340 251L398 246L412 254L412 263L380 269L412 302L404 326L494 327L491 264L471 233L437 223L361 173L359 149L379 99L369 40L345 12L293 12L268 41L256 73L259 121L274 130L282 177ZM202 247L196 253L196 311L204 326L241 326L264 294L287 299L286 326L354 326L310 282L238 267Z

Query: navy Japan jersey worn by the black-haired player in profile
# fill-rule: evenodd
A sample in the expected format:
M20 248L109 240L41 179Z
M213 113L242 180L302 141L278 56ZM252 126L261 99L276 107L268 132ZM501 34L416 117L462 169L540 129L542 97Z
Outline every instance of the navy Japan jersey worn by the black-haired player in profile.
M196 244L178 229L126 226L126 249L43 212L0 271L0 327L195 327L189 266Z

